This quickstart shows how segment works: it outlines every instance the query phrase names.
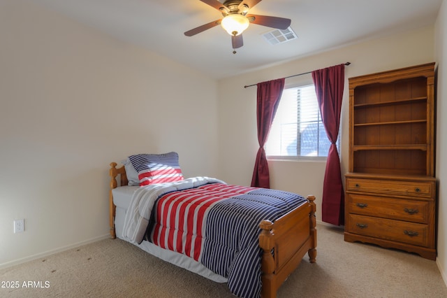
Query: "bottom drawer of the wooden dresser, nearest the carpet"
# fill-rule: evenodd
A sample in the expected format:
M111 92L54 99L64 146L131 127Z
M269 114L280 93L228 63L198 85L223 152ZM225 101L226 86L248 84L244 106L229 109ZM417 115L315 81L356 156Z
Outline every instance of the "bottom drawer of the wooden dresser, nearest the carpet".
M347 231L379 239L398 241L415 246L429 246L429 226L386 218L349 214Z

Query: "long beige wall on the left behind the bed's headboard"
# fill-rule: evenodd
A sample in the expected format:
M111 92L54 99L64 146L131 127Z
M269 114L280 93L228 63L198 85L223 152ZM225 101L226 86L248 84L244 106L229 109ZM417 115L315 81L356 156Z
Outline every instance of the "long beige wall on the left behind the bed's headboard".
M112 161L176 150L217 176L214 80L22 0L0 40L0 267L106 236Z

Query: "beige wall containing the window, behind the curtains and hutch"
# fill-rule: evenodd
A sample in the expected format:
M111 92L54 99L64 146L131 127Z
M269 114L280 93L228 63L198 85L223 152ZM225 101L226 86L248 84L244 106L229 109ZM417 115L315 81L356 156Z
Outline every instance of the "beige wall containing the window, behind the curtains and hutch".
M299 46L299 41L297 41ZM348 170L349 85L348 78L367 73L434 62L434 27L384 36L344 48L322 52L286 64L244 73L219 81L219 161L221 178L249 185L258 150L256 134L256 86L265 80L292 76L335 64L351 62L345 69L341 124L342 173ZM312 83L312 77L286 79L286 85ZM243 146L241 144L244 144ZM271 187L314 194L317 198L317 220L321 220L321 195L325 161L270 161Z

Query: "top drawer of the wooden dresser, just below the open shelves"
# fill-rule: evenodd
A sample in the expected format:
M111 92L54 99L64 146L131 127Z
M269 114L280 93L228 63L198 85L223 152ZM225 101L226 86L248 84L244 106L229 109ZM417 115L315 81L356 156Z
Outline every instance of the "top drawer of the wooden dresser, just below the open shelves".
M431 198L434 192L434 183L410 182L372 179L346 179L346 190L349 192L374 192L380 194L393 194L411 197Z

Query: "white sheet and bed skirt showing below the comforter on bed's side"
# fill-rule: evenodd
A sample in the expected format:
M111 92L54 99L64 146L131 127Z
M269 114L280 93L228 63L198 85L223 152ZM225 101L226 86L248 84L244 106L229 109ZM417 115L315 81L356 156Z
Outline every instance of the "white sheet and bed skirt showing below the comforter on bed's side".
M124 218L126 218L127 209L131 204L133 192L135 192L138 187L139 186L120 186L112 190L113 203L117 206L115 213L115 233L119 239L123 239ZM135 244L135 246L138 246L151 255L159 257L161 260L175 264L178 267L182 267L212 281L216 281L217 283L226 283L228 281L227 278L215 274L213 271L203 266L203 264L200 264L196 260L191 259L191 257L187 257L181 253L160 248L145 240L140 244Z

